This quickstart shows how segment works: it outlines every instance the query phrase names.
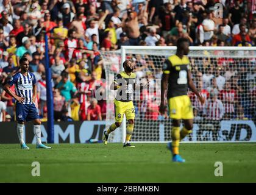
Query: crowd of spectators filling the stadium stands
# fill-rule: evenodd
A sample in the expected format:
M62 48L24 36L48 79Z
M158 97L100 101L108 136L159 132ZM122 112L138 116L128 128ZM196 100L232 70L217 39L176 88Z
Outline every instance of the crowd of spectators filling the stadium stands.
M218 2L224 5L222 17L215 16ZM188 38L191 46L254 46L255 13L254 0L1 0L0 121L15 119L15 101L2 87L19 71L23 56L29 59L30 71L38 81L36 104L42 121L47 119L45 52L51 66L55 121L103 120L106 101L95 98L95 91L104 85L101 79L105 78L100 51L129 45L174 46L180 37ZM208 63L208 69L196 70L202 75L197 87L204 90L207 98L212 98L209 91L215 91L213 98L218 94L217 99L224 104L229 96L225 95L227 90L232 91L232 98L223 108L226 117L238 117L236 111L245 113L247 105L236 106L233 102L239 90L247 90L243 93L255 97L256 90L244 82L249 74L255 79L255 63L252 70L243 66L244 75L235 74L233 68L225 72L213 69ZM196 112L202 110L193 94L191 98L197 116ZM251 100L243 102L247 101ZM146 115L157 119L157 105L148 108L151 110L144 110ZM244 118L255 117L252 115L247 110Z

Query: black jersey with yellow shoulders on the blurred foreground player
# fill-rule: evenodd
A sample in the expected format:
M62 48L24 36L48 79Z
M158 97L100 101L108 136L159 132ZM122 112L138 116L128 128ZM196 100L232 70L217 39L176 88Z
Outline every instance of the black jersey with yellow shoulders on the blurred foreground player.
M180 59L177 55L171 55L163 64L163 73L169 74L167 98L187 95L188 69L190 60L187 56Z

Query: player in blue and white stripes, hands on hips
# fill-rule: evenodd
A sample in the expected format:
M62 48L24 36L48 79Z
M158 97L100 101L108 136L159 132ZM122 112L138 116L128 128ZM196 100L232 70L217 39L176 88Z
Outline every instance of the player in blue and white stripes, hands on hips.
M25 121L34 122L34 133L37 141L37 148L50 149L41 143L41 121L35 107L35 98L37 97L37 85L34 74L29 72L29 60L26 57L20 59L21 71L16 73L12 79L4 86L4 90L16 100L16 121L18 138L21 149L29 149L24 143L23 129ZM15 85L15 93L10 88Z

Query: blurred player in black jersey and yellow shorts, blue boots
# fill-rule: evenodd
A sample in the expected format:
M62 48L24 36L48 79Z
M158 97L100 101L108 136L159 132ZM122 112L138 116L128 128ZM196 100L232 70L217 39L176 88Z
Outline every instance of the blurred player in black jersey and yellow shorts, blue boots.
M191 78L190 60L188 60L189 41L186 38L177 40L177 52L165 60L161 84L160 113L165 113L165 93L168 85L167 99L169 115L172 119L171 139L168 147L172 152L172 161L183 163L185 160L179 155L179 143L193 129L193 108L187 95L188 87L199 98L201 104L205 99L196 90ZM180 130L180 119L185 126Z

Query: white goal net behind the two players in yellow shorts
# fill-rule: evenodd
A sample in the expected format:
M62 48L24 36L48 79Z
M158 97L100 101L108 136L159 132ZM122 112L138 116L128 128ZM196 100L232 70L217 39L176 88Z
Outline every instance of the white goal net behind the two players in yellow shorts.
M121 51L102 52L106 77L107 127L115 122L113 99L109 89L114 77L123 71L126 59L135 63L137 83L150 81L149 90L137 90L133 96L135 128L132 141L170 141L171 119L158 112L163 62L176 53L176 47L124 46ZM201 105L188 90L194 113L193 133L183 141L256 141L256 48L190 47L191 73L196 88L205 97ZM167 99L166 99L167 102ZM183 124L182 124L183 125ZM181 126L182 126L181 125ZM126 122L109 138L122 142Z

